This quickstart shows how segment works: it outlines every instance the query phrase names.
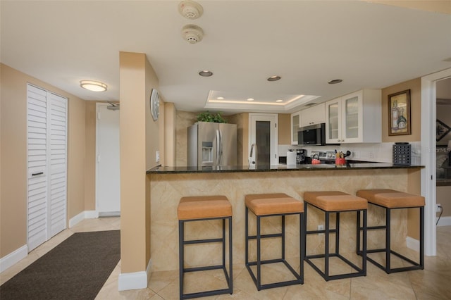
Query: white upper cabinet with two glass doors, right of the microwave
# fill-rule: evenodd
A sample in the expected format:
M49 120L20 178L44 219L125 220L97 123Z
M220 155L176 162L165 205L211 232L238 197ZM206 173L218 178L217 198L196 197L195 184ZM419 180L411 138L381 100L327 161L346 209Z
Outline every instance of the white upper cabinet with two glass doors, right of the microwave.
M326 143L381 142L381 90L364 89L326 102Z

